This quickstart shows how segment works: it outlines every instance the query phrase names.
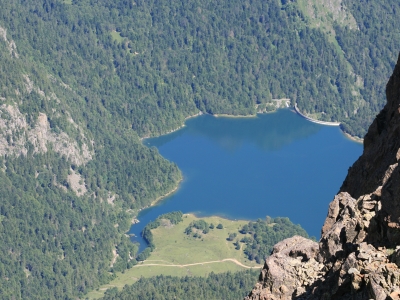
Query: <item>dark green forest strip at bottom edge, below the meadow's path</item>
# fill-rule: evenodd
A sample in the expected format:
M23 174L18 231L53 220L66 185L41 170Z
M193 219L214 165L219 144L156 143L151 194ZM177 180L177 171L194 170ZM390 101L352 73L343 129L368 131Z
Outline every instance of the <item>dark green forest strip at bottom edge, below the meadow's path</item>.
M157 276L141 278L122 291L107 290L104 300L111 299L243 299L257 281L259 270L236 273L211 273L204 277Z

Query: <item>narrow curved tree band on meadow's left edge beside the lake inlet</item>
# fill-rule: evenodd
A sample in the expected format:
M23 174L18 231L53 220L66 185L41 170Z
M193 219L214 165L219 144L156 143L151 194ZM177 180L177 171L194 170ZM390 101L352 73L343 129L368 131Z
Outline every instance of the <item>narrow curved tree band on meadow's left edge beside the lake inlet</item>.
M182 222L182 212L174 211L170 213L163 214L159 216L155 221L150 222L146 225L146 227L142 231L142 237L147 242L148 247L144 249L138 256L138 261L143 261L150 256L150 253L156 248L153 242L153 234L151 233L152 229L156 229L159 227L163 222L167 222L169 224L178 224ZM168 225L168 224L166 224Z

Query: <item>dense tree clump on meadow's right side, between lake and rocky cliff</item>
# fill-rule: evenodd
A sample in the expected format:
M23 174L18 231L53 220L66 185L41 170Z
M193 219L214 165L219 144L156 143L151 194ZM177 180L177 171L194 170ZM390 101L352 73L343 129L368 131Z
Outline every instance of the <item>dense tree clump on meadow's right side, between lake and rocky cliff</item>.
M300 235L308 238L307 232L300 225L295 225L288 218L258 219L257 222L249 222L244 225L240 233L249 233L240 241L246 244L244 253L250 260L262 263L272 252L274 245L288 237Z

